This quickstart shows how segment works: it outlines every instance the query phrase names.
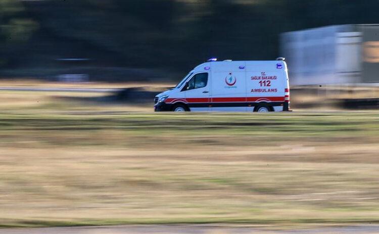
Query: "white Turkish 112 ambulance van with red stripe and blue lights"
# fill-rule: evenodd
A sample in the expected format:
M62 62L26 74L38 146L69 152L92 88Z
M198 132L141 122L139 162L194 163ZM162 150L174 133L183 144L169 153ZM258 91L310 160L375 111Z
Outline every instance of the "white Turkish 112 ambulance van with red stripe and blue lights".
M287 64L210 59L154 101L155 111L290 111Z

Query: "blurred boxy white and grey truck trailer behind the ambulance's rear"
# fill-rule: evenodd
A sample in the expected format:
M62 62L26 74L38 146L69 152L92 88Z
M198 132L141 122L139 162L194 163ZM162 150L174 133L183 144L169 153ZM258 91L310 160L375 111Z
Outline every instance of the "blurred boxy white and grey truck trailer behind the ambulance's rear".
M282 33L291 85L379 83L379 24Z

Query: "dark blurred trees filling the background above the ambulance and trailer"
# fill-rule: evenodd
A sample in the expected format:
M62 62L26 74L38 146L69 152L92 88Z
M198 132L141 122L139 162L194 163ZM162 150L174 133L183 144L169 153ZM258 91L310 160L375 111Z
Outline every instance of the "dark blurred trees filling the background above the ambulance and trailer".
M274 59L281 32L378 23L378 6L377 0L0 0L0 76L70 71L98 80L178 80L176 73L211 56Z

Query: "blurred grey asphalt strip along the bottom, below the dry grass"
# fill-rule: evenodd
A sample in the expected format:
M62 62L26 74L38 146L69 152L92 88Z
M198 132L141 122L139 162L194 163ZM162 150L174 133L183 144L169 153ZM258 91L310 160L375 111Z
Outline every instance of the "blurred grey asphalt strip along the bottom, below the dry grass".
M212 225L145 225L145 226L104 226L104 227L55 227L0 229L0 234L363 234L379 233L379 225L358 225L347 227L324 227L309 230L265 230L256 227L227 227Z

